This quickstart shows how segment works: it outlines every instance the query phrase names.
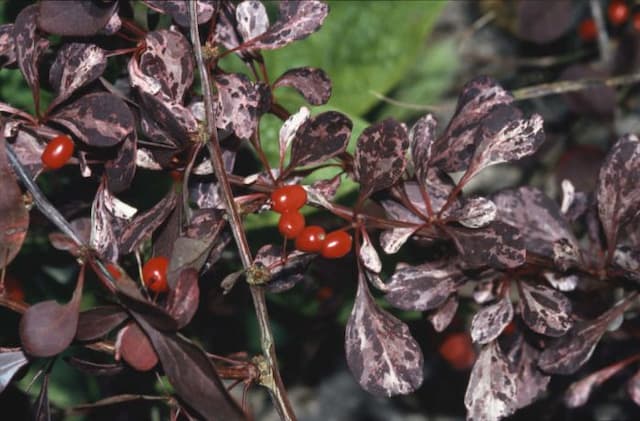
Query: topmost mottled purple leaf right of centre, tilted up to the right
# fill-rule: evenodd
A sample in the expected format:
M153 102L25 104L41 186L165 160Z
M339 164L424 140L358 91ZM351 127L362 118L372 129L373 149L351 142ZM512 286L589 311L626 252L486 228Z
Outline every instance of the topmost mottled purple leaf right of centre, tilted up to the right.
M431 148L433 165L448 172L467 169L482 120L494 108L512 102L513 96L490 77L481 76L468 82L449 126Z

